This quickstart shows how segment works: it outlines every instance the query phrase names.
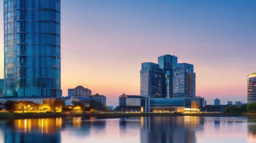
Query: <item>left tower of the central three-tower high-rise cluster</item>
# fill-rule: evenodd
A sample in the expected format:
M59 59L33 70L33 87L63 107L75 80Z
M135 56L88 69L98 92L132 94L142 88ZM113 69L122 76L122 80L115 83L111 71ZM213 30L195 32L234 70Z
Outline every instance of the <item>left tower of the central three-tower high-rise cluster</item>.
M162 97L162 69L156 63L141 63L140 95Z

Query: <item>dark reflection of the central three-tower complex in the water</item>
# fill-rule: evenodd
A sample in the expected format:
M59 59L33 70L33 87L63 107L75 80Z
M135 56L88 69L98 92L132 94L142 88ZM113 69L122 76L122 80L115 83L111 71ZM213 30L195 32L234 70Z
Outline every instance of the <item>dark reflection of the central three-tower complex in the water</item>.
M139 125L141 143L196 143L195 128L200 127L200 117L121 118L120 133L126 133L126 128Z

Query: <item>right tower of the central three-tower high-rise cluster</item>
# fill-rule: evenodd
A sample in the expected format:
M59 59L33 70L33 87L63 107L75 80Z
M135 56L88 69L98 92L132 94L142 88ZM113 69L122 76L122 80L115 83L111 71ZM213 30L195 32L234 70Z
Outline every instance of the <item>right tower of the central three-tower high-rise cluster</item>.
M195 98L194 67L188 63L177 63L173 69L173 98Z

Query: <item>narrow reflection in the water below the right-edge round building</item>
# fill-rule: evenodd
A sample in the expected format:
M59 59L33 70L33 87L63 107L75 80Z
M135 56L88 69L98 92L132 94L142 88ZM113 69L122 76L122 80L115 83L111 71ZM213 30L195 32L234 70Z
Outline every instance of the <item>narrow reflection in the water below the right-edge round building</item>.
M247 142L256 143L256 118L247 118Z

